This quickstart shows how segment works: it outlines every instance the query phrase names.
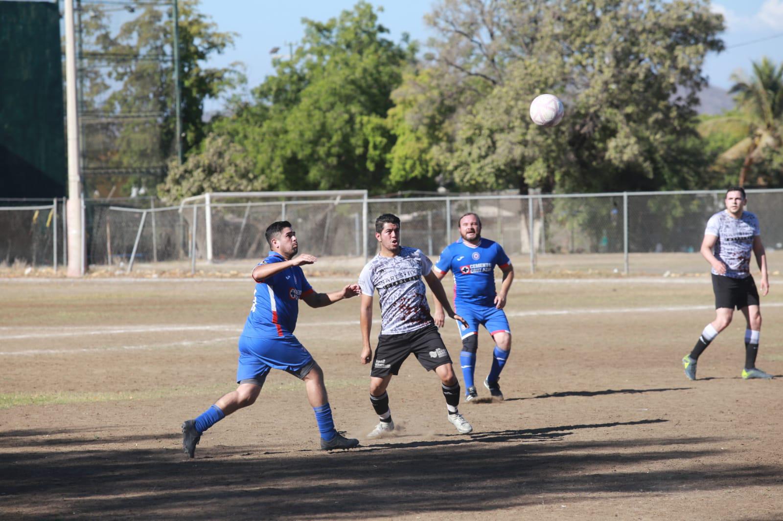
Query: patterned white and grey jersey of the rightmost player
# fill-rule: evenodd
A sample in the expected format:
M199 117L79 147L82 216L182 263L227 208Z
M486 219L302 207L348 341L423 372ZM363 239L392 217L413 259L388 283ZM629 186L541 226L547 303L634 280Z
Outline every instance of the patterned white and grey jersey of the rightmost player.
M755 214L742 212L735 219L725 210L709 217L704 235L715 235L718 240L713 246L713 254L726 264L727 277L745 278L750 275L750 256L753 250L753 237L761 235L759 220ZM720 275L714 269L713 275Z

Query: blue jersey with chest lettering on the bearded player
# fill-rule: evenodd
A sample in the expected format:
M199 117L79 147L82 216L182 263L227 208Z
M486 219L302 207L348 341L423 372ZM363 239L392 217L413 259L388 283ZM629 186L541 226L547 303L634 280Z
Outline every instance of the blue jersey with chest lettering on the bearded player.
M454 274L454 304L460 302L480 306L494 306L495 266L511 264L503 247L495 241L483 239L478 246L465 243L462 238L451 243L441 253L433 269Z

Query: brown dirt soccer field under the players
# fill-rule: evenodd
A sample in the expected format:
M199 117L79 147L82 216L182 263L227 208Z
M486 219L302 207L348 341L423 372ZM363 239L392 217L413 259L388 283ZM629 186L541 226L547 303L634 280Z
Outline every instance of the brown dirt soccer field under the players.
M713 318L709 278L520 280L506 401L461 404L474 432L459 435L438 379L410 358L389 387L402 429L373 441L359 300L303 305L297 335L362 447L316 450L304 387L272 372L191 460L179 426L234 388L248 278L0 280L0 517L783 519L783 279L771 282L758 365L781 377L739 377L738 315L691 382L680 358ZM442 334L458 358L456 329ZM477 380L491 350L482 334Z

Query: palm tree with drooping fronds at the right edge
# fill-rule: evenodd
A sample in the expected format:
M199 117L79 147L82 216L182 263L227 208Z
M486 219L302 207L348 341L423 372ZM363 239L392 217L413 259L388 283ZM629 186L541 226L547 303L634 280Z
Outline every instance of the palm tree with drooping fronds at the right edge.
M724 160L744 156L739 171L738 185L745 185L752 164L760 159L763 150L781 146L783 127L783 63L780 66L764 56L760 63L753 62L750 79L742 74L732 74L734 85L729 93L735 94L743 120L749 125L749 135L721 155Z

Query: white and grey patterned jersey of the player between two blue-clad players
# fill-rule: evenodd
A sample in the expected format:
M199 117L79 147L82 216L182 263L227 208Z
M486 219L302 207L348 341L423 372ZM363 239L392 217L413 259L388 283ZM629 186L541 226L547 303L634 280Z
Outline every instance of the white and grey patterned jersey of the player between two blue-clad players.
M399 335L432 324L423 275L432 263L417 248L402 246L399 255L376 255L359 275L362 293L381 296L381 335Z

